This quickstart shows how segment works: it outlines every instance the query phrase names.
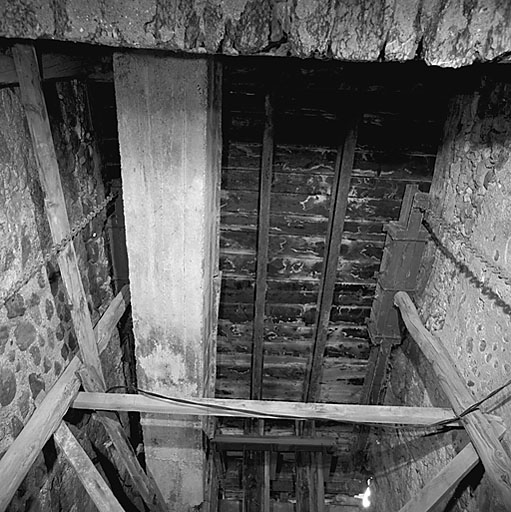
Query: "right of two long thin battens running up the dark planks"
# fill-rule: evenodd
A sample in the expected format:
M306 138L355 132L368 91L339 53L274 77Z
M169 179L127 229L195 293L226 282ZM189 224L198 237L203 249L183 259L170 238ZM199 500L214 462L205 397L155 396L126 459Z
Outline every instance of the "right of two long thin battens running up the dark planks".
M350 118L345 139L339 148L335 164L330 215L326 237L323 272L318 296L318 307L312 354L308 363L304 401L315 402L319 395L323 355L328 335L328 324L334 296L337 264L341 252L344 219L348 207L355 145L357 141L357 117Z

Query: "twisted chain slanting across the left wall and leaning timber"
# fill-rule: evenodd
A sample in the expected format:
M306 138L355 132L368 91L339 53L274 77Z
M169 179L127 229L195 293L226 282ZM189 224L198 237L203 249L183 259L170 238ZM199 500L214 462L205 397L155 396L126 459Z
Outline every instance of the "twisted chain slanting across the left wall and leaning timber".
M39 258L33 261L23 272L23 274L9 287L9 289L0 294L0 308L12 298L21 288L23 288L39 270L50 262L54 257L58 256L68 245L74 240L117 196L117 193L111 192L108 196L97 204L82 220L76 224L69 234L60 242L54 244L50 250L41 254Z

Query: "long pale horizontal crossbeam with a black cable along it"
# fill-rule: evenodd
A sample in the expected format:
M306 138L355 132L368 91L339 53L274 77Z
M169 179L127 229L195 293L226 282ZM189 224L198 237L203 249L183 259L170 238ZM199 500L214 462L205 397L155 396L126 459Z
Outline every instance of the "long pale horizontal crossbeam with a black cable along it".
M145 395L122 393L78 393L75 409L102 411L138 411L153 414L190 414L236 418L317 419L375 425L424 425L453 419L451 409L436 407L399 407L389 405L323 404L265 400L224 400L219 398L183 398L175 401Z

